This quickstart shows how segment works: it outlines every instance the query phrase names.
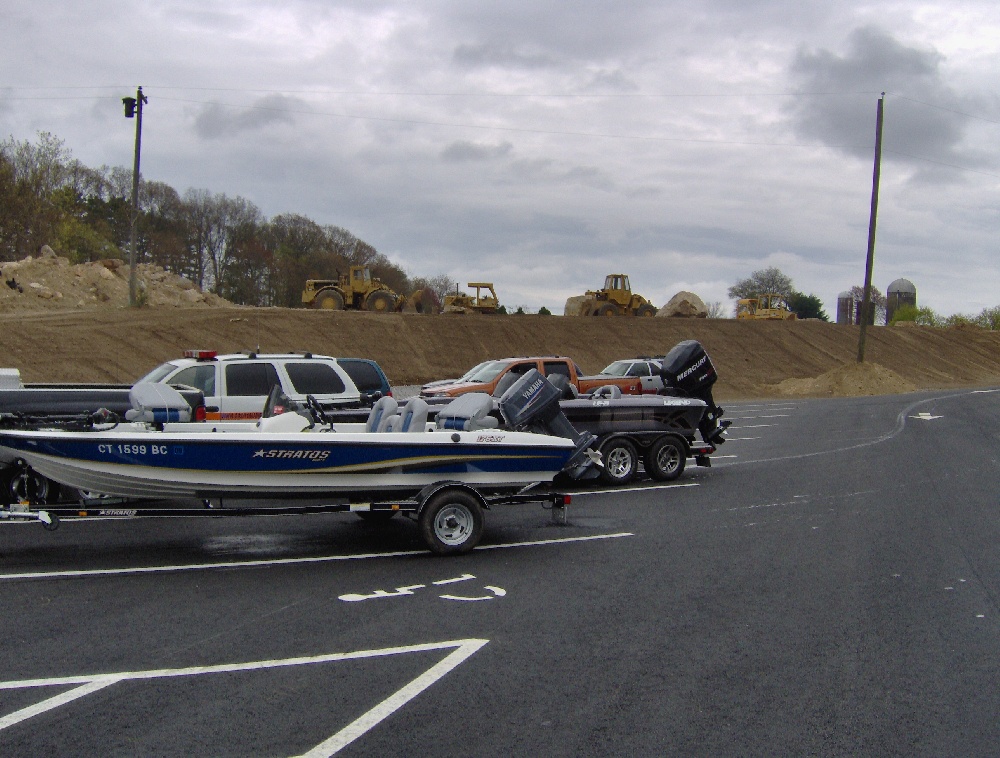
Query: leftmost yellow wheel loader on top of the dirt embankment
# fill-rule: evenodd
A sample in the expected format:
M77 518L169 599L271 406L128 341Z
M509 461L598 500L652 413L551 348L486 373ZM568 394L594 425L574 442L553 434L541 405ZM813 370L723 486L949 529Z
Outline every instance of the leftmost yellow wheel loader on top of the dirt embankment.
M302 290L302 302L310 308L335 311L374 311L392 313L438 313L437 297L429 289L417 290L410 297L397 295L368 266L351 266L336 279L309 279Z

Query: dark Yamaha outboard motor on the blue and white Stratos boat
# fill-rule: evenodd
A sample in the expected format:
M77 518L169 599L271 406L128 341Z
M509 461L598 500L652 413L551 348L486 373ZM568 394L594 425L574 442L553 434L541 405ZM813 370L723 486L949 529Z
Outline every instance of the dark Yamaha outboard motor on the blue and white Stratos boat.
M586 478L588 471L597 475L600 472L592 466L594 459L587 454L597 437L573 428L559 407L561 396L562 392L557 387L539 371L531 369L503 393L498 405L509 429L573 440L576 451L564 471L574 479Z

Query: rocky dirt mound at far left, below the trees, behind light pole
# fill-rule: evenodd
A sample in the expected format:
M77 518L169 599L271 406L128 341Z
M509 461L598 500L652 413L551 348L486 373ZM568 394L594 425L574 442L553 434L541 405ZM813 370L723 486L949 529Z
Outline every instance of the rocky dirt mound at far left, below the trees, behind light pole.
M128 305L129 267L118 258L71 264L51 248L38 257L0 265L0 311L120 308ZM150 306L205 308L232 305L159 266L136 266L138 297Z

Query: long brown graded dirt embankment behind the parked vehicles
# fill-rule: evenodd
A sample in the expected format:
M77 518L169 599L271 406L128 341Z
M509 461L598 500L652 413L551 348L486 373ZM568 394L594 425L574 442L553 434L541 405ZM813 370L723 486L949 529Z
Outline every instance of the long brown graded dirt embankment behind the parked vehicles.
M131 382L185 348L370 357L395 384L457 376L512 355L568 355L590 373L696 339L719 371L722 400L1000 386L1000 333L975 328L870 328L863 366L858 327L818 321L117 307L0 312L0 335L0 366L35 382Z

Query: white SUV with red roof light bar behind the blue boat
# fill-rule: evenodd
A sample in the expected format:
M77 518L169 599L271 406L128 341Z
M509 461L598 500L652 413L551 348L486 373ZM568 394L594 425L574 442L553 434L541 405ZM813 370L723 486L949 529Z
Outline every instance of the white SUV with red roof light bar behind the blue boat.
M312 395L324 408L361 404L361 393L336 358L312 353L236 353L185 350L139 380L185 384L205 393L209 421L253 421L260 418L271 387L280 384L292 400Z

